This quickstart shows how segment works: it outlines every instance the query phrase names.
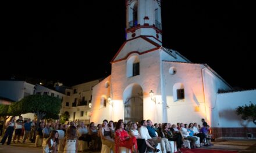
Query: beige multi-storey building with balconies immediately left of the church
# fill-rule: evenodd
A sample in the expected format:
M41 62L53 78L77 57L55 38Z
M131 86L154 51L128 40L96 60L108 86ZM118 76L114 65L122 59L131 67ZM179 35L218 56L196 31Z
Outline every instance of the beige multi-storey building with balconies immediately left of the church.
M99 80L94 80L79 85L72 86L66 89L66 96L63 97L61 114L68 114L69 121L84 121L90 122L90 108L91 96L93 93L93 86L97 85Z

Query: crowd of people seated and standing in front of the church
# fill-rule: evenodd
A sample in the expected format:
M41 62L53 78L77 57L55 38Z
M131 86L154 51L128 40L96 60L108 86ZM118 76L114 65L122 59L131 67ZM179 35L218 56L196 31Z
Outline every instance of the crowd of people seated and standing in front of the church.
M120 152L120 147L129 148L132 152L171 152L169 141L175 141L177 152L186 147L184 140L190 142L191 148L209 146L211 144L211 130L207 122L202 119L202 127L197 123L155 123L151 120L124 123L122 119L118 122L107 121L95 126L91 122L87 126L84 122L74 121L67 124L41 121L35 129L35 121L27 119L23 121L22 116L15 121L12 116L6 122L6 131L1 143L23 143L29 139L35 146L42 146L43 152L58 152L59 145L63 152L77 153L79 141L87 143L88 150L100 151L102 144L106 145L113 153ZM13 132L15 131L14 137ZM63 132L63 141L59 140L59 134ZM40 141L43 140L43 141ZM15 140L17 140L15 142ZM159 147L157 147L159 145Z

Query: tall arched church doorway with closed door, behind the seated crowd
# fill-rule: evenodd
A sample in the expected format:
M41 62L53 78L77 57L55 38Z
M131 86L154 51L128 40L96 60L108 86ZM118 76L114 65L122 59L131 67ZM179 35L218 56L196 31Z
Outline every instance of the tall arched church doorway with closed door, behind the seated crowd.
M140 122L143 120L143 89L137 83L133 83L123 92L125 101L125 123Z

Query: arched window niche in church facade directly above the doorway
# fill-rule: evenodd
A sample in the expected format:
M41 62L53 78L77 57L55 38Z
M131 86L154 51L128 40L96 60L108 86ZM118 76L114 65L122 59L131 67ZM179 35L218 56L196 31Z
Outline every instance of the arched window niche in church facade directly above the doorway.
M140 75L140 59L138 56L131 56L126 63L126 77Z

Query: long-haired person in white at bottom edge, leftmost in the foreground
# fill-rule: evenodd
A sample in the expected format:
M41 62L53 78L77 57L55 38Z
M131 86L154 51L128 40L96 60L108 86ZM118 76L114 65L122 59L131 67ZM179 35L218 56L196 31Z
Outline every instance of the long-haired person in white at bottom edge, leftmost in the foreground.
M45 144L42 146L42 153L57 153L59 144L59 133L56 130L51 132Z

